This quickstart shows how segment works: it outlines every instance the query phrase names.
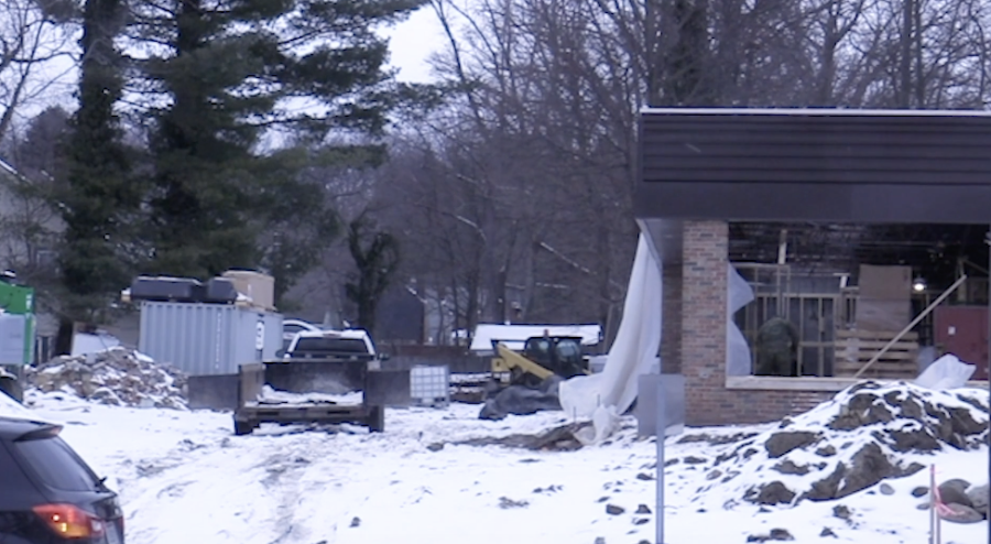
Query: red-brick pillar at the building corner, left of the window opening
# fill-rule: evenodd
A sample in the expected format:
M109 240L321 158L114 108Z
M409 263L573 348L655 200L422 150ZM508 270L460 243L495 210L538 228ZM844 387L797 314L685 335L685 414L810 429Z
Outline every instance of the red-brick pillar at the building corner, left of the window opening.
M682 373L686 424L726 421L726 308L729 226L685 221L682 264Z

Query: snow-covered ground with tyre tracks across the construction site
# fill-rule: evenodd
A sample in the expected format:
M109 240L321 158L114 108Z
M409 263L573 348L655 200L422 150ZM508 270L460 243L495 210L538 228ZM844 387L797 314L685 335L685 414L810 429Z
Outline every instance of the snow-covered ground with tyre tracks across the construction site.
M970 405L956 395L933 394L934 402ZM985 412L987 393L969 394ZM263 426L236 437L228 413L107 406L62 393L33 392L29 403L39 416L64 422L63 437L109 476L127 512L129 544L653 542L654 515L636 512L654 509L655 445L635 437L633 420L624 420L601 446L533 451L454 443L540 433L567 423L562 413L490 422L477 418L479 406L453 404L390 410L382 434L350 426ZM838 406L824 404L786 429L823 432ZM809 448L770 459L761 445L781 431L780 424L690 428L668 438L667 543L742 543L772 529L788 531L798 543L926 542L927 512L916 509L921 499L911 491L928 485L928 470L885 480L891 486L885 492L873 486L835 501L797 507L744 501L747 489L771 480L804 486L802 476L770 470L780 459L816 460ZM852 442L863 440L862 429L852 433L858 436ZM688 435L694 438L686 440ZM739 455L747 440L756 454ZM841 450L830 463L843 458L845 448L837 447ZM940 481L988 481L983 446L944 447L906 459L935 464ZM821 465L821 471L832 470ZM806 478L821 477L816 474ZM835 515L838 504L850 511L849 520ZM618 512L614 507L622 513L607 512ZM835 537L820 536L826 527ZM944 523L943 540L985 542L987 530L987 522Z

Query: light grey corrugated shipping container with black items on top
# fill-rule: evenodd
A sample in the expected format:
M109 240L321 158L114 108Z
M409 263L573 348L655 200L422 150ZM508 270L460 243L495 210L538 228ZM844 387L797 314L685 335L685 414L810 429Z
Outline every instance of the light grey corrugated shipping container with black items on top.
M236 374L238 366L275 359L282 315L229 304L141 303L138 349L189 376Z

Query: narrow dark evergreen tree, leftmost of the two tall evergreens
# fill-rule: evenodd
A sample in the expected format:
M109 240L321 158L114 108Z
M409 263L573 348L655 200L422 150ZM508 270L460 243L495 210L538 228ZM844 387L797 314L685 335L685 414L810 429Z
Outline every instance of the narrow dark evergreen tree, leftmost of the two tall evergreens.
M128 210L141 199L130 178L115 106L123 87L115 39L122 29L121 0L87 0L83 12L79 109L72 119L67 184L55 195L65 224L59 269L66 296L56 350L72 342L74 320L99 322L110 298L129 283L120 248Z

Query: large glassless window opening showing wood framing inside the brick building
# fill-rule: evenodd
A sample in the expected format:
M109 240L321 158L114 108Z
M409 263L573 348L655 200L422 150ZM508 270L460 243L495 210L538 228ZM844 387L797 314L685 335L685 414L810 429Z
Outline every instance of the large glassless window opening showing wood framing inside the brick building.
M753 295L733 315L751 373L914 380L954 355L987 380L987 231L731 224L729 259Z

